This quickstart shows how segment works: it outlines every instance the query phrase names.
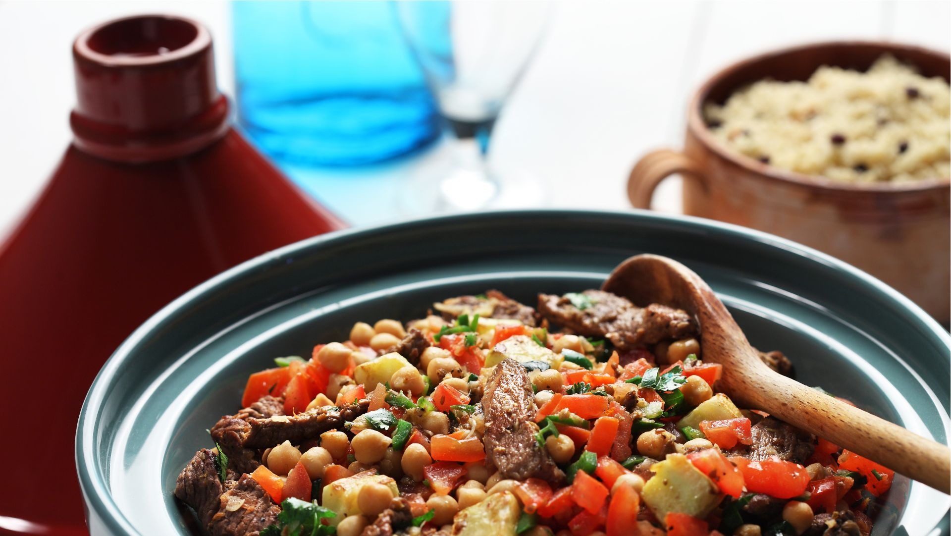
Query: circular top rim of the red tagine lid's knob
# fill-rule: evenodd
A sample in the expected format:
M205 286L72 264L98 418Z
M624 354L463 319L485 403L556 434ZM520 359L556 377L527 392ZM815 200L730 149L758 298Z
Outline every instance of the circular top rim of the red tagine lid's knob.
M143 56L117 56L104 54L94 50L89 46L89 39L96 32L106 29L110 26L140 19L166 19L184 22L195 29L195 37L183 47L169 50L165 54L150 54ZM80 33L78 37L76 37L76 41L73 44L72 50L73 55L77 58L94 62L103 67L147 67L170 64L189 56L193 56L195 53L208 47L211 47L211 33L204 28L204 25L199 24L198 21L180 15L149 13L108 20L102 24L86 29Z

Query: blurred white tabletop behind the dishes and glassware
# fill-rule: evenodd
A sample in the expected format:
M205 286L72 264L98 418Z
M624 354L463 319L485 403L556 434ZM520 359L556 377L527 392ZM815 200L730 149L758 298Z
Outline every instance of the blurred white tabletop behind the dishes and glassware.
M70 139L70 45L108 18L170 12L204 22L219 85L233 93L229 6L206 2L0 0L0 235L29 207ZM951 48L951 2L561 2L542 48L503 111L492 158L543 178L547 206L630 206L636 159L678 146L690 92L718 68L768 48L810 41L890 39ZM346 220L405 217L395 199L416 163L286 168ZM677 179L655 196L679 210Z

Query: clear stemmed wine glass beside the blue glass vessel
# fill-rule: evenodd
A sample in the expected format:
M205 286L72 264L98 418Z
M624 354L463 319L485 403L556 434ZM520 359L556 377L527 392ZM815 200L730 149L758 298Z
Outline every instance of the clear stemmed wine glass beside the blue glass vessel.
M542 201L543 189L534 178L498 173L486 156L495 120L538 48L553 4L403 1L395 6L450 134L449 154L417 173L401 204L418 213Z

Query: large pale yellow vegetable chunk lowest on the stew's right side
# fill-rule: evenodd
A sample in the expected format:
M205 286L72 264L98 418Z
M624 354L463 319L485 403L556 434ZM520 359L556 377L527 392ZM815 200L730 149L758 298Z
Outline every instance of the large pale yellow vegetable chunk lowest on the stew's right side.
M657 519L665 519L670 512L705 518L723 499L713 481L683 454L668 454L650 469L654 475L644 485L641 499Z

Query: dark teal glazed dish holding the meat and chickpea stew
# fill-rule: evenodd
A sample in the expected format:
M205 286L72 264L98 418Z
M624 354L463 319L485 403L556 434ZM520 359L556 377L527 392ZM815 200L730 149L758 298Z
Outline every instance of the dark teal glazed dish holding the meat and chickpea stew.
M597 287L650 252L676 258L727 303L750 341L798 379L947 442L951 340L908 299L821 253L744 228L647 212L521 211L343 231L287 246L169 304L108 360L79 419L90 531L197 534L172 490L206 429L238 409L247 374L340 340L357 320L412 318L497 288ZM143 284L147 284L144 281ZM914 452L909 452L913 456ZM947 533L949 498L896 478L875 534Z

